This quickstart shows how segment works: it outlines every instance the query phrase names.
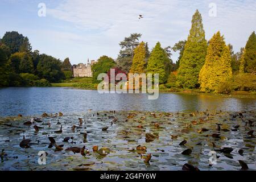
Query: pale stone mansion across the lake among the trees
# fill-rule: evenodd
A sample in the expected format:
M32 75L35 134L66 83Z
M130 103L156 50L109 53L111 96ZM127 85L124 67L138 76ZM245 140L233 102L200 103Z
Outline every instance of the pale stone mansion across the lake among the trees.
M74 77L92 77L92 69L91 66L95 63L94 60L89 62L89 59L87 61L87 64L78 64L73 65L73 76Z

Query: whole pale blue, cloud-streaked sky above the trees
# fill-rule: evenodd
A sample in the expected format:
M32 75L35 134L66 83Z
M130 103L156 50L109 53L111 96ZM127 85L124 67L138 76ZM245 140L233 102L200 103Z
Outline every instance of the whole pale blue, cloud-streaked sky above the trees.
M38 15L39 3L46 5L46 16ZM141 33L150 49L158 41L167 47L187 39L196 9L205 38L220 31L235 52L256 31L255 0L1 0L0 38L18 31L33 50L61 60L69 57L71 64L102 55L116 59L119 42L131 33ZM139 14L144 18L138 19ZM174 53L172 60L177 57Z

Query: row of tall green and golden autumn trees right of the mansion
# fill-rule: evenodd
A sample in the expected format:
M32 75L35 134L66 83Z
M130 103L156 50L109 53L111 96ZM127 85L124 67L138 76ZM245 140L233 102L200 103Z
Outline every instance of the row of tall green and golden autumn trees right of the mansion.
M160 89L200 89L217 93L256 91L255 32L246 46L234 53L233 46L225 43L220 32L209 41L205 39L198 10L191 22L187 40L173 47L162 48L158 42L149 51L147 43L139 42L141 34L131 34L119 43L121 51L115 67L126 73L159 73ZM176 63L171 59L171 51L179 52ZM97 78L96 73L94 78Z

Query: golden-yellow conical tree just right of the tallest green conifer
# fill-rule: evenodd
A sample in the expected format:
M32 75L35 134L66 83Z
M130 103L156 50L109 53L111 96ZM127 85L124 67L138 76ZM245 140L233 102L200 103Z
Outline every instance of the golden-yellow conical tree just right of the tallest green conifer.
M218 92L220 85L232 77L231 55L224 37L217 32L210 39L205 64L199 74L203 92Z

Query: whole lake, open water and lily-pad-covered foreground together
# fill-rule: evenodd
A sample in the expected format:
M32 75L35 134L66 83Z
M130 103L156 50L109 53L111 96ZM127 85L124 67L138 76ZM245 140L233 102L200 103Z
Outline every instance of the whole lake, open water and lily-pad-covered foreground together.
M238 160L256 170L251 98L160 93L147 100L147 94L69 88L2 88L0 96L0 170L181 170L186 163L240 170ZM38 164L39 151L46 165ZM209 166L213 151L217 163Z

